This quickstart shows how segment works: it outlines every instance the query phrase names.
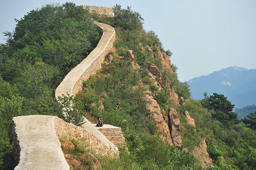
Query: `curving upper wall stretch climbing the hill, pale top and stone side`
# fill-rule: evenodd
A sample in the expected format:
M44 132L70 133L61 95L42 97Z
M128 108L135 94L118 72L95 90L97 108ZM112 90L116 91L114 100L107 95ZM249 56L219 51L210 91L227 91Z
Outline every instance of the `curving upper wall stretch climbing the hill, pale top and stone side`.
M99 40L98 45L92 52L90 52L87 58L85 58L66 75L64 80L55 90L56 98L61 96L61 94L66 95L66 93L76 96L82 89L83 81L101 69L105 56L113 47L116 37L115 29L104 23L96 24L103 29L103 35Z

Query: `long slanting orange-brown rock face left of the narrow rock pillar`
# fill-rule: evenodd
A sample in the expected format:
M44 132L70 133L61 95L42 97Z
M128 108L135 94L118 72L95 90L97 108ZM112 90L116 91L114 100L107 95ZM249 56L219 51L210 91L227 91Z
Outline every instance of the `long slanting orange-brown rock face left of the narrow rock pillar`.
M145 100L148 101L146 108L151 113L150 118L154 119L154 121L157 122L157 129L160 133L160 138L162 138L164 142L172 145L172 138L168 124L163 119L163 114L161 113L160 106L159 104L157 104L157 101L154 100L151 92L145 92Z

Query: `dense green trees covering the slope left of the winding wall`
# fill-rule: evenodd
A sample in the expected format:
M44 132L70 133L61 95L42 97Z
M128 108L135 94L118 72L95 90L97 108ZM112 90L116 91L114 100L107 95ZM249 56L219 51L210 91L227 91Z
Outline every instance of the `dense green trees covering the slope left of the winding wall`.
M81 62L99 41L90 14L73 3L48 4L32 10L14 32L5 32L0 44L0 169L13 168L12 118L20 115L55 115L80 125L79 104L54 96L67 72ZM76 109L69 110L70 102Z

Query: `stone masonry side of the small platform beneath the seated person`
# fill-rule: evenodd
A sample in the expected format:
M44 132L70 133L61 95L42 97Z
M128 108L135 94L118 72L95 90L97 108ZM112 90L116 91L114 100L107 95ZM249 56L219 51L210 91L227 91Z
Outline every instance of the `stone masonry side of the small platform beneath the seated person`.
M97 128L103 135L108 138L114 145L121 145L126 147L124 133L120 127L111 127L111 128Z

